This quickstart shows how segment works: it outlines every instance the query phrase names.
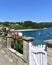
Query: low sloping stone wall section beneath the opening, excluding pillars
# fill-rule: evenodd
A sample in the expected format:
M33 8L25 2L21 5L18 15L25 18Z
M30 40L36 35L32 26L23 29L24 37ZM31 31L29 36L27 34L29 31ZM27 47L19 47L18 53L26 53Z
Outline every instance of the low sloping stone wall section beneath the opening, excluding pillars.
M16 63L16 65L28 65L28 63L24 60L23 55L16 50L12 48L5 48L4 51L8 55L8 57L12 59L14 63Z

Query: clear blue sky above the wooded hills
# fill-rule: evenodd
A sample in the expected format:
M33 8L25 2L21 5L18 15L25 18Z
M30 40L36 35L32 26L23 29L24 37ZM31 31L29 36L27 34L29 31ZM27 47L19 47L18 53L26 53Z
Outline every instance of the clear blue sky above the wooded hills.
M52 0L0 0L0 21L52 22Z

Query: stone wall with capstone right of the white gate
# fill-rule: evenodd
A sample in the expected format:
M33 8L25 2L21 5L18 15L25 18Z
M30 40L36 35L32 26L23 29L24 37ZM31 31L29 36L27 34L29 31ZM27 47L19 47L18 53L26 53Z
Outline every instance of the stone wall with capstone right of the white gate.
M52 39L45 42L47 43L47 65L52 65Z

